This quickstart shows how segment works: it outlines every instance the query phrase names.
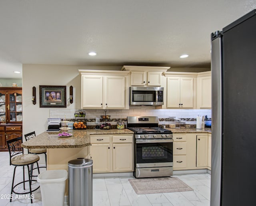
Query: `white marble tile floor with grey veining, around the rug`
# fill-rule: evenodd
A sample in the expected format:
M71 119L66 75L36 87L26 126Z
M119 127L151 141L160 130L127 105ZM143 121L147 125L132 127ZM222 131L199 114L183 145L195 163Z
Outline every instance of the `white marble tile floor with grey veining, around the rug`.
M40 188L33 192L33 204L28 198L6 199L10 194L14 166L9 165L9 153L0 152L0 206L42 206ZM22 179L22 167L16 169ZM93 206L210 206L210 174L174 175L194 191L160 194L136 194L128 179L133 176L93 178ZM34 178L36 179L36 178ZM38 183L33 184L36 186ZM15 194L14 194L15 195ZM67 206L67 202L64 204Z

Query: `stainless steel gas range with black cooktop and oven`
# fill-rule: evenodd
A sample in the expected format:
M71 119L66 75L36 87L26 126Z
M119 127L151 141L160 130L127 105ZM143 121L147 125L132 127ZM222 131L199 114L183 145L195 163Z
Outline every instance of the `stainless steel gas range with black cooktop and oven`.
M172 131L158 127L157 116L127 117L134 131L134 176L172 176Z

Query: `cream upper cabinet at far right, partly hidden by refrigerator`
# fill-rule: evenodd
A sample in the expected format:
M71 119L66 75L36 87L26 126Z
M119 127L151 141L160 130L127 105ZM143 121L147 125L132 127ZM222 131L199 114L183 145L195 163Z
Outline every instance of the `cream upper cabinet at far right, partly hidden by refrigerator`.
M212 107L212 76L210 71L198 73L197 78L197 108L209 109Z

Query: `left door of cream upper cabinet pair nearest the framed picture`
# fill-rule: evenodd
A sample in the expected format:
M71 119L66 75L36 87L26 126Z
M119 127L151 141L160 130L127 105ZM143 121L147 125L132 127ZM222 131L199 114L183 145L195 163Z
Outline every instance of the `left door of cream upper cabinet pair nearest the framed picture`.
M100 108L103 104L103 77L82 76L82 108Z

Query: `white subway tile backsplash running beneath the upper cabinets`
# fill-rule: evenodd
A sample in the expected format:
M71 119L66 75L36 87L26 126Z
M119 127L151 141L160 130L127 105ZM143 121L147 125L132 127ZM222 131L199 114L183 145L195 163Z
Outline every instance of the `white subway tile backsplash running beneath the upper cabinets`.
M79 109L50 109L49 118L61 118L68 121L75 121L74 113ZM158 116L160 124L171 124L174 122L174 117L188 121L196 122L198 115L211 118L211 109L156 109L155 107L134 106L130 109L83 109L86 113L85 121L87 125L95 125L96 118L101 115L110 115L107 121L115 125L119 119L126 123L127 116ZM77 119L84 119L79 117ZM100 124L104 123L100 119Z

